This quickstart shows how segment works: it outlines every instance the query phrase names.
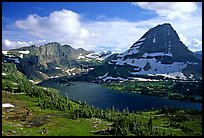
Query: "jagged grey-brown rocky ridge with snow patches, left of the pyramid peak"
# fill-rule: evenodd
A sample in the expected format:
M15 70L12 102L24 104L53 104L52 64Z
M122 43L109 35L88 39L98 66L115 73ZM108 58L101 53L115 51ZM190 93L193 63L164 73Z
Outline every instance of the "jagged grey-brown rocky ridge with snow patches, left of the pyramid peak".
M43 80L85 73L102 63L111 53L97 54L57 42L3 51L4 62L14 62L29 79Z

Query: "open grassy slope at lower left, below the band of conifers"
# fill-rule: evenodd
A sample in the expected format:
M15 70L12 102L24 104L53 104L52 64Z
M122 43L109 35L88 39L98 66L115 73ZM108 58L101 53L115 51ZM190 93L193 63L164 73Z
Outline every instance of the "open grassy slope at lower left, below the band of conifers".
M107 121L102 121L97 127L94 127L94 122L97 118L91 119L68 119L65 112L42 109L37 106L36 99L30 98L27 95L13 95L11 93L2 93L2 103L12 103L14 108L2 108L2 135L17 135L17 136L90 136L92 131L107 129ZM11 110L11 111L9 111ZM30 111L26 119L24 115ZM46 119L42 117L48 116ZM100 119L101 120L101 119ZM40 126L31 126L29 124L35 122L42 123ZM10 132L14 130L16 132ZM47 130L42 134L41 131Z

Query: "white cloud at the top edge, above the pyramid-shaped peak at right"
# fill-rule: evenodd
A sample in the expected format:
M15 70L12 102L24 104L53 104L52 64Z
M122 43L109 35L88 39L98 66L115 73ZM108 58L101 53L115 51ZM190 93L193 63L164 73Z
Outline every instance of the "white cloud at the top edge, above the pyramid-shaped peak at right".
M134 2L133 5L151 10L168 19L186 18L196 10L196 2Z

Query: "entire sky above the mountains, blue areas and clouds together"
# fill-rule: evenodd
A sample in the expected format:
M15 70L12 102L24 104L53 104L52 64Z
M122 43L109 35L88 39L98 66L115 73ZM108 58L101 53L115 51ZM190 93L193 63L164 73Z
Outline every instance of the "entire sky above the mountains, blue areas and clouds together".
M59 42L124 52L163 23L202 50L202 2L2 2L2 49Z

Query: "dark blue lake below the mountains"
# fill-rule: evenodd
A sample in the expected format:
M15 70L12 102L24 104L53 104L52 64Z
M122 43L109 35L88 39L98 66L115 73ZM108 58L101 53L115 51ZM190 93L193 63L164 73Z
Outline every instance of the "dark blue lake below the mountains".
M167 99L164 97L147 96L131 92L119 92L103 87L100 84L88 82L71 82L74 85L62 86L53 79L45 80L38 85L52 87L66 95L71 100L80 100L94 107L107 109L114 106L122 111L127 108L129 111L140 111L152 108L179 107L190 109L202 109L201 103L186 102Z

